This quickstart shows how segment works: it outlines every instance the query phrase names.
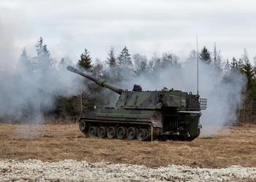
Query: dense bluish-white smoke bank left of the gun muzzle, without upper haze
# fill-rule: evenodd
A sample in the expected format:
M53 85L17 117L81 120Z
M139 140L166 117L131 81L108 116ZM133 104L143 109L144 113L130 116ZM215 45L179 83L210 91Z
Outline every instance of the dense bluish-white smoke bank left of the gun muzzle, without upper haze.
M42 122L44 112L54 108L55 96L78 94L79 79L71 74L65 69L33 74L0 71L0 116L17 120L27 114L29 122Z

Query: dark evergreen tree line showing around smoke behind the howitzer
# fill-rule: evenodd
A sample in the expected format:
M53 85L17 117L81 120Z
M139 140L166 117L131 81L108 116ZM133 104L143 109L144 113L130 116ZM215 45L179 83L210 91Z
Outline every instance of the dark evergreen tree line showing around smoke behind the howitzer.
M80 54L80 59L76 63L72 63L72 60L68 57L61 58L57 62L51 58L50 51L42 38L37 41L35 47L37 57L30 58L25 48L20 55L21 65L24 69L31 71L31 73L37 73L38 71L43 73L48 69L65 69L68 65L73 65L82 70L89 71L89 74L97 78L105 79L116 85L142 74L154 76L158 71L181 66L183 63L174 53L164 52L162 55L154 53L151 58L147 58L145 55L138 53L131 55L127 47L124 47L118 54L116 54L114 47L110 47L105 60L92 60L89 50L85 49ZM187 58L187 62L196 60L197 52L192 50ZM243 74L247 80L246 90L244 90L246 99L241 111L238 111L241 116L240 119L245 121L256 116L256 67L249 60L246 50L244 50L241 58L223 60L216 46L213 52L210 52L207 47L203 47L199 52L199 60L211 65L212 68L219 69L219 71L225 74L230 74L232 71ZM254 60L256 61L256 57ZM94 109L94 106L102 107L111 104L116 98L112 92L104 90L86 79L80 84L81 87L78 95L69 98L56 95L55 107L48 111L47 114L61 119L75 118L82 111Z

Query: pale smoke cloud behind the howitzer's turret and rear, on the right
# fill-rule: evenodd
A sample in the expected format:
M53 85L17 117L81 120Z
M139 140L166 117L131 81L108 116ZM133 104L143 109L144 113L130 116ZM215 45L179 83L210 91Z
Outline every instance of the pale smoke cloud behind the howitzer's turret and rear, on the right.
M161 90L168 87L196 94L196 63L186 62L181 66L159 70L153 76L143 74L126 86L132 88L133 84L140 84L143 90ZM245 87L246 79L238 72L231 71L227 75L219 68L200 62L199 94L200 98L208 99L207 109L202 111L200 117L200 123L203 125L202 135L215 134L224 126L236 122Z

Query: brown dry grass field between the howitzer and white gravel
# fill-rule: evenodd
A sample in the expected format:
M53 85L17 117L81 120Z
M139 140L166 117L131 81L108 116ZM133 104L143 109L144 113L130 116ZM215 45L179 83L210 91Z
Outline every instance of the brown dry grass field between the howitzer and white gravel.
M120 141L86 138L76 124L0 124L0 159L63 159L159 167L256 167L256 126L181 141Z

